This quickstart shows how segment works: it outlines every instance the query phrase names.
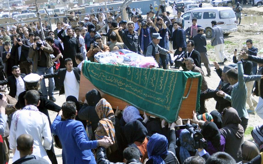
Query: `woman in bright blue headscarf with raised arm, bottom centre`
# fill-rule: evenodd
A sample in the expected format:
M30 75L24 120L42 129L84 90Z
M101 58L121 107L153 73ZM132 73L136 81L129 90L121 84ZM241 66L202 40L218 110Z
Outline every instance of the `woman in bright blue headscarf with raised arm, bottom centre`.
M175 123L170 127L170 144L164 135L155 133L152 135L147 144L149 160L146 164L179 164L175 156L176 137Z

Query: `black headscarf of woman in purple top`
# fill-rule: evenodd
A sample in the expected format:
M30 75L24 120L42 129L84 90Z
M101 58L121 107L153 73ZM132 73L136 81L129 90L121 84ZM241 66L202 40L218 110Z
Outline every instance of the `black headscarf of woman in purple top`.
M213 146L219 149L221 146L221 133L214 122L205 122L201 133L204 139L211 141Z

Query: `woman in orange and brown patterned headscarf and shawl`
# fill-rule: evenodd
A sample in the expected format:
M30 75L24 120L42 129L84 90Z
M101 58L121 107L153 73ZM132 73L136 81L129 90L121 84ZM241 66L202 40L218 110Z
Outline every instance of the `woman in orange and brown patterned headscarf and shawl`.
M115 115L110 103L105 98L99 100L95 108L99 116L98 127L95 131L96 140L102 139L104 136L110 137L113 145L107 148L106 154L109 157L112 153L118 150L118 144L115 135Z

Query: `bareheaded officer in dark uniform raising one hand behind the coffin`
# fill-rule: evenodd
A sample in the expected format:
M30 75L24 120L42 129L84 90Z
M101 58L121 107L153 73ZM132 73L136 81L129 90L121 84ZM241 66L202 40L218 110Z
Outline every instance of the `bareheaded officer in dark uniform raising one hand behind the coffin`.
M123 31L123 27L119 27L119 35L130 51L143 53L139 44L139 35L134 31L133 22L128 23L128 30Z

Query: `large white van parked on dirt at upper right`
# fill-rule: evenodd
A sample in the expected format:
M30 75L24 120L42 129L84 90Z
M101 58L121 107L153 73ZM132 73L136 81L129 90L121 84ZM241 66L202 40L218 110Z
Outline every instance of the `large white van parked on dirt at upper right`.
M205 28L207 38L212 38L211 21L216 20L217 25L223 29L225 35L236 32L236 15L229 7L209 7L189 10L184 15L184 27L188 28L192 25L192 18L197 18L197 25Z

